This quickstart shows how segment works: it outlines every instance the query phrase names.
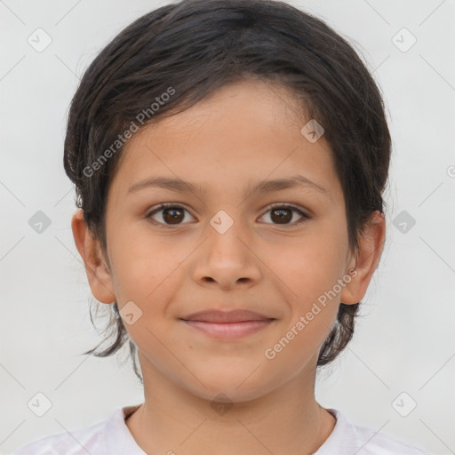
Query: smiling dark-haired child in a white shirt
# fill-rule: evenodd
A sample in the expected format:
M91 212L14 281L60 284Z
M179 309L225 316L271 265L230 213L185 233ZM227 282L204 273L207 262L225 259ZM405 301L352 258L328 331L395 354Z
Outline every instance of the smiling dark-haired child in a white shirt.
M289 4L184 0L125 28L64 165L116 333L89 353L128 340L145 400L15 455L427 453L315 401L379 263L389 159L368 70Z

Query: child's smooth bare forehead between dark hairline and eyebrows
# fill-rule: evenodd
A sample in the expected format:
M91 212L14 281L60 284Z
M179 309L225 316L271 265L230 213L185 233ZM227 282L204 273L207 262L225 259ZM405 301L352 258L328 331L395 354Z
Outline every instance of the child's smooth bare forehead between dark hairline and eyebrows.
M164 177L213 191L299 173L332 194L340 188L331 148L323 137L307 140L300 131L307 120L282 87L255 81L226 85L135 133L112 187L126 194L140 180Z

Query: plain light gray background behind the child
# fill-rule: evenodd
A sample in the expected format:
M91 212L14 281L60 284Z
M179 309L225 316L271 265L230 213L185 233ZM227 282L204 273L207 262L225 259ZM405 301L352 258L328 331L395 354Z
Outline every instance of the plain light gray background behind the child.
M79 355L100 337L70 229L76 206L62 156L78 78L116 33L162 4L0 1L2 453L142 402L131 363ZM365 317L331 376L321 372L316 395L356 424L455 453L455 3L292 4L356 42L384 92L394 140L387 244L363 299ZM52 37L44 52L28 44L36 28ZM402 28L417 38L407 52L392 41ZM395 38L402 46L410 39ZM42 234L28 225L37 211L52 220ZM405 233L393 224L402 211L416 220ZM52 401L43 417L27 405L37 392ZM401 409L417 403L407 417L392 405L402 392L409 397Z

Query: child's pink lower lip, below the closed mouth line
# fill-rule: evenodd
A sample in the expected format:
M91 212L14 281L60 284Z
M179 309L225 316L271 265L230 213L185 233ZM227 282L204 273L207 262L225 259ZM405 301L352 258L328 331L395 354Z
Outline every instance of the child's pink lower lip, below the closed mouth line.
M244 321L243 323L206 323L204 321L185 321L184 323L206 335L218 339L238 339L265 329L274 319Z

